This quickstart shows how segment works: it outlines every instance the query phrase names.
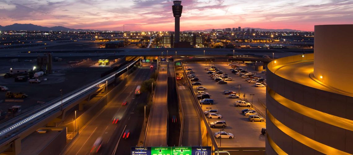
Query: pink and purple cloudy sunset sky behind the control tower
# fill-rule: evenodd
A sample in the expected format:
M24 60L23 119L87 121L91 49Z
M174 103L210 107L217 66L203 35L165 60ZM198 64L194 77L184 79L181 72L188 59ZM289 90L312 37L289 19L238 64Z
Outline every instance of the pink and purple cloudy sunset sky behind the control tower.
M0 25L174 31L170 0L0 0ZM313 31L353 24L353 0L183 0L180 30L241 26Z

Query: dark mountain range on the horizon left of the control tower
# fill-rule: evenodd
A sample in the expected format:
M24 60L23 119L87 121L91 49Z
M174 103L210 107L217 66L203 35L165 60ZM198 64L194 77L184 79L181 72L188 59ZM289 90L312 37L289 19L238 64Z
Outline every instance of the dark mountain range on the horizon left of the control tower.
M65 28L63 26L54 26L54 27L45 27L34 24L12 24L7 26L1 26L0 30L2 31L18 31L18 30L26 30L26 31L95 31L95 30L84 30L84 29L70 29Z

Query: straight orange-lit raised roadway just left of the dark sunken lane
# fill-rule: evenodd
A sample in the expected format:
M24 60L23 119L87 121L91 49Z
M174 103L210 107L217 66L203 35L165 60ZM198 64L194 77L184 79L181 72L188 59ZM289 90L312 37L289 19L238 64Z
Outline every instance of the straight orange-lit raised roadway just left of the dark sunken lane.
M161 62L144 143L146 147L167 146L167 90L167 62Z

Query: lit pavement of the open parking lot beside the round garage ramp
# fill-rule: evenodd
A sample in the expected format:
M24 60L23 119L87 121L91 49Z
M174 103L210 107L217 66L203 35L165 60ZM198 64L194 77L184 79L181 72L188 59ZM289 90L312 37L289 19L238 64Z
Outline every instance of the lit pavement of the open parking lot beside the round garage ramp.
M253 96L254 105L260 108L260 105L255 100L257 101L259 98L265 101L266 87L254 87L253 83L247 83L245 78L231 73L229 71L231 67L227 63L215 63L214 66L219 67L220 70L225 71L229 77L233 78L233 81L227 81L228 84L218 84L218 82L211 79L210 74L207 74L205 70L206 67L209 67L209 64L188 63L186 66L195 71L196 76L200 79L198 82L202 84L201 86L207 88L207 90L196 90L198 86L194 86L194 90L196 92L205 91L209 93L210 99L214 100L213 105L202 105L203 111L207 111L207 108L217 109L223 117L222 119L209 119L209 121L225 120L227 127L224 130L234 135L233 139L222 138L221 147L265 147L265 137L261 135L261 129L265 127L265 122L250 122L248 117L241 113L241 110L247 107L234 107L235 101L240 99L229 98L228 95L224 95L223 90L232 90L237 92L238 95L238 84L241 84L240 98L244 99L243 93L245 93L245 98L251 101L251 96L247 96L247 94L255 94ZM244 66L242 67L244 68ZM247 67L247 70L253 72L250 67ZM261 106L261 108L263 107ZM213 134L222 129L222 127L211 128ZM216 138L216 141L220 146L220 139Z

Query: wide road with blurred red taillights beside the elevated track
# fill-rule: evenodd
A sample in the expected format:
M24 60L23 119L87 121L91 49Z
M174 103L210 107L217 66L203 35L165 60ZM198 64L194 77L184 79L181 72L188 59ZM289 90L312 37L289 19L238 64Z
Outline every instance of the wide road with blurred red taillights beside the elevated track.
M109 101L108 106L92 118L91 123L62 154L90 154L98 137L102 137L103 141L98 154L106 155L114 152L115 154L130 154L130 147L138 143L143 125L143 111L140 112L141 109L138 109L137 106L145 103L146 100L146 93L135 95L134 90L153 72L149 65L145 66L137 70L136 76L131 77L133 79L128 79L128 83L122 88L121 93L116 94L116 97ZM126 106L121 105L124 101L127 101ZM119 119L117 124L112 123L114 118ZM130 131L130 135L126 139L121 137L125 130Z

